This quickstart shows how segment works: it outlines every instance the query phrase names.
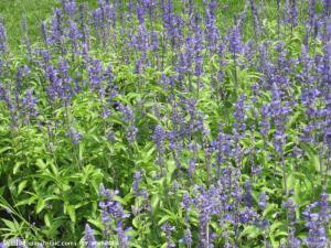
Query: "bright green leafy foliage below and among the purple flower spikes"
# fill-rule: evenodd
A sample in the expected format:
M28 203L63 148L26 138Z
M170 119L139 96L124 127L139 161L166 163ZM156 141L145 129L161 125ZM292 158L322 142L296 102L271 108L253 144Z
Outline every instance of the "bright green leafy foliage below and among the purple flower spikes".
M38 40L39 31L35 24L42 19L47 19L51 9L58 7L58 3L51 0L33 2L24 0L12 1L10 4L0 3L1 15L9 23L11 46L18 47L20 35L13 28L17 22L11 20L13 18L9 18L9 13L13 11L13 17L17 17L22 10L26 12L29 26L32 24L29 34L32 43L38 44L41 41ZM181 11L181 6L177 3L177 11ZM222 11L226 9L228 12L224 14L226 22L220 25L222 30L227 30L227 25L233 22L233 12L242 8L244 1L223 3ZM34 10L34 4L39 4L40 9ZM89 4L95 3L89 1ZM202 1L196 1L195 8L202 4ZM277 21L274 20L273 10L274 6L267 7L264 13L271 17L269 19L265 17L261 26L268 36L261 34L260 40L255 41L260 44L268 40L274 42L268 51L271 62L278 58L274 47L279 44ZM248 12L248 17L249 14L252 13ZM135 21L126 23L130 24L136 23ZM153 24L157 31L163 30L160 23ZM244 23L243 30L247 40L253 36L252 23ZM124 40L125 35L128 35L120 36L116 30L111 34L114 40ZM300 56L303 34L302 26L293 32L284 30L282 42L287 47L287 56L293 58ZM255 42L253 46L256 48L259 44ZM322 54L320 43L309 42L318 54ZM99 203L104 201L100 196L100 185L105 185L106 188L119 190L119 194L111 201L119 203L124 207L124 213L130 215L122 218L122 224L132 227L127 231L127 235L132 237L131 247L166 248L170 241L175 242L175 247L185 247L179 240L184 237L186 229L191 230L193 244L197 245L201 241L199 231L203 228L207 229L207 233L215 234L216 247L225 246L228 240L238 247L263 247L267 240L273 247L278 247L287 242L290 236L288 213L282 205L288 200L287 191L291 192L291 198L298 205L295 212L297 219L302 219L303 209L312 201L319 200L321 192L330 192L329 180L320 173L327 171L327 163L323 163L323 158L318 152L318 145L322 145L322 142L308 143L299 140L302 128L310 119L299 99L302 87L296 82L297 78L290 78L295 83L287 89L287 96L299 104L291 106L292 114L289 115L284 130L287 133L284 153L280 155L273 143L277 132L276 125L270 125L270 130L265 136L256 128L263 120L261 107L273 101L269 91L256 95L252 87L264 79L264 74L256 68L256 64L253 64L258 57L248 60L239 55L234 60L233 54L225 53L220 63L218 55L203 51L205 74L201 77L193 73L185 75L181 80L174 79L170 86L160 82L163 76L177 75L172 51L168 50L162 54L167 66L147 67L139 74L134 63L126 63L129 60L127 54L136 60L136 53L139 51L134 48L129 51L130 47L122 44L125 42L121 40L111 44L114 47L111 45L104 47L99 43L100 41L95 37L92 39L90 55L98 58L104 67L113 68L111 84L105 80L100 83L105 88L94 88L87 83L89 75L84 67L86 62L82 54L74 55L68 52L63 55L61 48L52 47L54 56L50 58L50 64L55 66L62 60L67 60L70 62L67 74L72 79L68 85L71 87L78 85L79 88L71 96L70 104L61 97L50 100L46 90L49 80L44 68L35 63L42 61L38 53L31 58L25 54L26 47L22 46L20 51L24 51L23 55L1 54L7 61L7 66L1 74L0 86L10 89L9 97L20 101L29 89L33 89L33 94L38 95L38 115L33 118L29 117L25 106L21 106L20 111L13 115L6 100L0 101L1 238L82 242L85 225L88 223L96 230L96 238L100 240L105 233L105 223L100 218L103 212L99 207ZM152 60L153 53L147 54L147 57L157 64ZM130 57L131 61L135 61L134 58ZM31 73L22 80L21 95L15 96L12 90L13 82L17 80L19 68L24 64L31 65ZM221 68L224 73L222 82L216 77L216 72ZM297 73L301 73L303 68L297 69ZM196 82L203 87L197 87ZM107 97L102 96L102 89ZM119 94L113 96L115 91ZM233 127L236 122L234 112L236 104L244 95L245 104L248 106L245 109L247 111L245 121L250 129L241 139L235 140L235 145L239 148L243 157L231 158L224 162L224 168L221 168L217 164L217 155L213 152L209 154L209 149L212 148L213 141L218 139L221 126L224 133L234 134ZM201 122L190 112L188 106L191 101L194 101L194 115L202 122L203 131L197 127ZM105 110L110 114L105 115ZM127 117L126 111L129 110L131 112ZM180 116L185 126L179 127L180 125L172 120L175 115ZM164 151L160 152L153 139L157 126L162 127L169 134L173 130L185 133L186 130L182 129L191 127L190 125L193 127L191 133L180 141L177 140L175 145L180 147L178 150L171 149L174 145L173 141L167 138ZM132 127L137 128L137 138L130 140ZM319 133L314 134L319 138ZM199 149L194 150L192 148L194 144L199 144ZM228 145L234 147L233 143ZM297 148L302 151L298 158L292 155ZM190 168L192 164L194 170ZM256 166L260 166L263 171L260 174L253 173ZM222 177L222 173L228 168L241 171L235 182L239 188L245 188L245 182L250 181L254 204L252 208L256 211L259 219L235 226L229 220L232 216L227 216L228 220L221 224L220 219L213 216L207 220L206 227L202 227L202 209L199 209L195 203L195 206L190 206L190 211L185 212L182 206L183 196L188 194L197 201L201 194L200 186L205 185L205 190L213 190L220 183L218 179L226 180ZM137 171L141 172L138 191L132 185ZM258 207L261 192L270 200L263 209ZM231 209L237 204L238 211L244 211L244 206L236 202L238 198L232 193L228 195L231 206L226 207ZM265 225L259 220L269 223ZM115 218L109 223L114 231L118 223ZM167 225L175 227L170 240L164 230ZM306 238L307 227L303 222L298 220L295 225L297 236ZM330 228L327 231L331 233ZM108 238L108 241L119 241L115 231Z

